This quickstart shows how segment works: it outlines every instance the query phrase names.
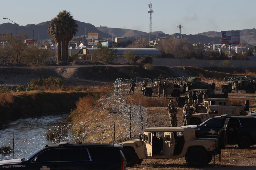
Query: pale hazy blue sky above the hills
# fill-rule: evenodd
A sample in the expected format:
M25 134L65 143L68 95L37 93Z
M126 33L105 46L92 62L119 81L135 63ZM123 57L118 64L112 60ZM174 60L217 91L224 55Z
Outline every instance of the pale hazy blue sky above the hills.
M12 0L1 1L0 24L38 24L54 18L61 10L70 11L75 20L91 23L95 27L126 28L149 32L152 3L152 31L167 34L179 32L177 24L183 24L182 34L207 31L228 31L256 28L256 1L202 1L202 0ZM1 32L1 30L0 30Z

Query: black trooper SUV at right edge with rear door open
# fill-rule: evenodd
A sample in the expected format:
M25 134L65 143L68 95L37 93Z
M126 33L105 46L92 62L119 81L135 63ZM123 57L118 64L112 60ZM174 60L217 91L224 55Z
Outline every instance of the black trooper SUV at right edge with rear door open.
M219 130L226 130L227 144L249 148L256 144L255 116L216 116L200 125L188 125L196 129L197 138L217 138Z

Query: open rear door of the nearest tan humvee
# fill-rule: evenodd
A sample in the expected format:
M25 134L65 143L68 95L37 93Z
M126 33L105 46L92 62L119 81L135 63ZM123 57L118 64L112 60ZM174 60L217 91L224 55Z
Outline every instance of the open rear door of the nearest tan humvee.
M164 133L164 155L171 156L174 152L175 138L172 132Z

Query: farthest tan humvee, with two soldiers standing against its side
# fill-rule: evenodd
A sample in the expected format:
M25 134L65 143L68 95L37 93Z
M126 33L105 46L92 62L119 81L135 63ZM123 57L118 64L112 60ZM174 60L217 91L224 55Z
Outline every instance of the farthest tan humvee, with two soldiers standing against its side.
M164 85L164 82L161 82ZM158 84L159 82L154 82L154 86L146 86L142 88L144 96L152 96L153 93L158 94ZM172 97L179 97L180 94L184 94L186 91L183 85L176 85L172 82L166 82L167 84L167 94ZM163 88L162 88L163 93Z

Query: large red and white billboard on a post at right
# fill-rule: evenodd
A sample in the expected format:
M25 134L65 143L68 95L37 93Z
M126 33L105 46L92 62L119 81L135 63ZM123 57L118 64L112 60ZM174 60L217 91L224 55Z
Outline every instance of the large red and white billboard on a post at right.
M240 43L240 31L221 31L220 43Z

